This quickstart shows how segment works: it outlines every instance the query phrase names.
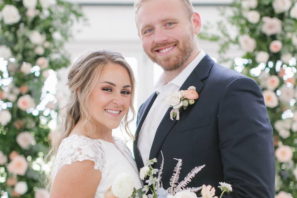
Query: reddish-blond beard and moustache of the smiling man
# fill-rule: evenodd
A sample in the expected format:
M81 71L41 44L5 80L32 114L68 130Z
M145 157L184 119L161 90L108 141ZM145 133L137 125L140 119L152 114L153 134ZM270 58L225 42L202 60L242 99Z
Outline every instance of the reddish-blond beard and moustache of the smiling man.
M145 54L155 63L160 65L164 71L173 71L183 66L183 64L190 58L194 50L194 37L191 31L188 32L186 38L179 42L162 43L153 46L150 52L144 51ZM155 50L166 46L176 45L178 52L168 54L166 56L159 56Z

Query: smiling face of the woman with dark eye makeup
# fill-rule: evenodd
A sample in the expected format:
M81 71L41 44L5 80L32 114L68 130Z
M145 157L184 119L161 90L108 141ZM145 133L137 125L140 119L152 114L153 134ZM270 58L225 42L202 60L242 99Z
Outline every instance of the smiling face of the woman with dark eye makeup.
M99 127L117 128L127 113L131 100L131 80L118 64L106 64L88 98L92 119Z

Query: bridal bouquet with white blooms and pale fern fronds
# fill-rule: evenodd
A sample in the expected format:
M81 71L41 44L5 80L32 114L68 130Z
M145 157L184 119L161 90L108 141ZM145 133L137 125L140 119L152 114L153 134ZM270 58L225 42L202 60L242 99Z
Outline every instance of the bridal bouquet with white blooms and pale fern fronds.
M196 193L201 190L201 197L200 198L218 198L215 195L215 188L211 185L202 185L200 187L186 187L188 183L192 181L195 175L204 168L205 165L198 166L193 168L189 174L183 179L182 182L178 182L180 170L182 169L182 159L175 159L177 160L177 165L174 168L174 173L170 179L170 187L165 190L163 188L161 179L162 179L162 170L164 166L164 157L162 154L162 163L160 170L154 169L152 165L157 162L157 159L154 158L152 160L148 160L146 166L140 169L140 179L144 180L146 177L149 177L145 180L145 185L142 189L136 190L134 188L133 179L129 174L122 173L119 174L112 185L106 192L105 198L197 198ZM157 174L157 177L154 176ZM232 187L228 183L219 182L220 186L218 186L222 195L227 192L232 192ZM149 190L152 194L146 195Z

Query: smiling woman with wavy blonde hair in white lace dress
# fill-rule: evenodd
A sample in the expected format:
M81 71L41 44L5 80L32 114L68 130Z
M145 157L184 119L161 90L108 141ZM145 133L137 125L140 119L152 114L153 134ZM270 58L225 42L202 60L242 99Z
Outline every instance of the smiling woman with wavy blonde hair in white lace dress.
M128 114L135 117L135 80L129 64L117 52L87 52L71 66L67 85L63 122L50 152L55 156L50 197L104 197L123 172L140 188L129 149L111 134L122 123L133 138Z

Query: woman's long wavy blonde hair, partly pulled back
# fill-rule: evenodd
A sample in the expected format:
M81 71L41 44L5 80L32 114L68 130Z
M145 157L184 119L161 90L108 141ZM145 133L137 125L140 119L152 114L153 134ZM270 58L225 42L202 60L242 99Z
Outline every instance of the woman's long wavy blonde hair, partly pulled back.
M56 157L62 140L69 136L80 118L85 119L83 131L85 125L88 125L88 128L90 128L90 131L84 131L84 133L91 137L92 133L96 131L96 125L91 119L88 97L97 84L102 68L109 63L123 66L129 74L131 80L131 101L130 107L121 121L121 127L124 128L131 139L135 140L129 129L129 124L134 120L136 115L133 108L135 77L130 65L122 54L118 52L110 50L86 51L75 60L68 73L67 86L69 93L64 98L64 105L62 105L59 111L61 124L54 131L53 138L51 138L51 149L46 157L47 160L50 157ZM130 119L129 115L131 115Z

